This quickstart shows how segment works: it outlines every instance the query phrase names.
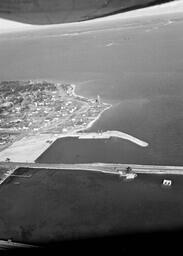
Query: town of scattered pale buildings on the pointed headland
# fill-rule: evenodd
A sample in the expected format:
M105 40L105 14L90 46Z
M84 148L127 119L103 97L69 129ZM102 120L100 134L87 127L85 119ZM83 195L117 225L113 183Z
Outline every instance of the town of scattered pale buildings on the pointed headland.
M74 90L48 81L0 82L0 150L26 135L87 129L110 106Z

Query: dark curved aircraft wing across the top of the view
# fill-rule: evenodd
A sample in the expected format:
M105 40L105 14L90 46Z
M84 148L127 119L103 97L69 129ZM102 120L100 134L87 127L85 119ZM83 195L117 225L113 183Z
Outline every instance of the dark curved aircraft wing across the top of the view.
M28 24L59 24L162 2L165 0L0 0L0 18Z

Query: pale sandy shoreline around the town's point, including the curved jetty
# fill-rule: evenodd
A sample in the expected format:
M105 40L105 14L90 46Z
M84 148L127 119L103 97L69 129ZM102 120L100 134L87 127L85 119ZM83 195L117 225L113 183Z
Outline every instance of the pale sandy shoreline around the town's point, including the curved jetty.
M58 83L58 86L61 85ZM88 109L90 108L90 102L93 98L86 98L82 95L75 93L76 85L70 84L71 91L69 96L76 99L84 99L88 104ZM86 125L81 125L80 127L72 127L67 132L57 133L57 132L48 132L36 134L27 134L18 141L15 141L12 145L5 148L0 152L0 161L6 162L9 158L11 162L27 162L34 163L34 161L45 151L47 150L57 139L64 137L78 137L79 139L105 139L110 137L117 137L123 140L128 140L140 147L147 147L149 144L145 141L142 141L134 136L131 136L127 133L121 131L105 131L105 132L88 132L93 124L101 118L101 115L112 107L112 104L101 103L103 110L95 117L92 118ZM48 143L49 142L49 143Z

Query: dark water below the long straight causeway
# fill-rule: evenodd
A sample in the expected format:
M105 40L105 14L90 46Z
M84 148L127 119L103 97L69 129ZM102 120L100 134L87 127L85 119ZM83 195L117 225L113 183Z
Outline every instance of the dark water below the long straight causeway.
M82 169L19 168L15 174L0 187L4 240L46 244L183 227L182 175L139 174L125 181ZM164 187L164 179L172 186Z

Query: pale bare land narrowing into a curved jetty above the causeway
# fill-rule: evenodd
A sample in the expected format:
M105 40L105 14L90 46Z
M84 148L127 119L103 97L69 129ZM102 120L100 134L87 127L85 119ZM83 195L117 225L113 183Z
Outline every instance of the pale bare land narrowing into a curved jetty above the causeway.
M70 133L70 134L38 134L27 136L14 142L9 148L0 152L0 161L10 159L11 162L34 162L58 138L78 137L79 139L105 139L118 137L129 140L138 146L147 147L148 143L119 131L103 133ZM51 141L51 143L50 143Z

